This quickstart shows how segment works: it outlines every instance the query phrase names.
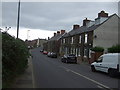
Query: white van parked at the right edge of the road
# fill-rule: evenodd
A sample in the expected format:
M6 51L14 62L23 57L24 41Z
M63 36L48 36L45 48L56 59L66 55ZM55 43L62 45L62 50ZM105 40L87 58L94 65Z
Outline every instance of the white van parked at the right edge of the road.
M118 75L120 73L120 53L108 53L100 56L91 64L91 70L106 72L110 76Z

